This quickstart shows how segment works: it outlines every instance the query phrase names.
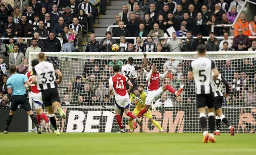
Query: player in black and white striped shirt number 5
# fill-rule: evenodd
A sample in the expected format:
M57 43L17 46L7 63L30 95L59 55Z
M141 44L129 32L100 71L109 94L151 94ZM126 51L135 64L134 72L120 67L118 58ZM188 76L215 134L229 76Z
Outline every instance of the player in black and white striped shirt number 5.
M203 142L216 142L213 131L215 127L214 85L213 78L219 76L213 60L206 58L206 46L198 45L198 59L193 60L189 66L188 80L194 79L196 85L196 104L199 110L200 124L203 130ZM213 77L212 77L213 72ZM207 130L206 106L208 107L208 122L210 134Z

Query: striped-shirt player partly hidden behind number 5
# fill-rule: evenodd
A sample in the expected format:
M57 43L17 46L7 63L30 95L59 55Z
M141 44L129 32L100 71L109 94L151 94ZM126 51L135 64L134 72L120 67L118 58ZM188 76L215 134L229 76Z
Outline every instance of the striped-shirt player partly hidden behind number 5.
M227 82L227 80L225 79L225 77L223 77L221 74L219 74L219 76L216 78L216 80L214 81L214 98L215 98L215 103L214 103L214 110L215 110L215 114L216 116L216 130L214 133L214 135L219 136L219 126L221 124L221 121L227 125L227 127L229 128L229 131L231 133L231 136L235 135L235 127L232 127L231 124L229 123L229 121L227 120L227 118L223 115L222 113L222 102L223 102L223 94L222 94L222 83L224 83L225 87L226 87L226 93L224 94L225 98L227 98L229 96L229 83Z

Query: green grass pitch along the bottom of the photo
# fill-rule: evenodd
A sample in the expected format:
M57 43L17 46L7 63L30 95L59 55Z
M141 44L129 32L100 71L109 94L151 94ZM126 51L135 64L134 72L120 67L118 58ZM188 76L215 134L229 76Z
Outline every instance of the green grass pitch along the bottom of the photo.
M256 155L256 134L0 133L0 155Z

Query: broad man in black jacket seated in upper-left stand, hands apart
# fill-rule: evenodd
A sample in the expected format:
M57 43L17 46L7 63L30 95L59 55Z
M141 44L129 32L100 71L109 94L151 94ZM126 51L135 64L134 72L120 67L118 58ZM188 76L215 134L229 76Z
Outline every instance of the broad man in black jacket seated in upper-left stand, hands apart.
M27 22L27 16L21 16L21 22L16 25L15 35L18 37L31 37L34 31L33 26Z

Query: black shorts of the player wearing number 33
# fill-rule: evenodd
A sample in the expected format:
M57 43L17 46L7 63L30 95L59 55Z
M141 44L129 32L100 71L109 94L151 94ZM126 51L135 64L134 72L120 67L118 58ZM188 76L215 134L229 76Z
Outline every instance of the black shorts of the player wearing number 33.
M52 102L60 102L58 89L52 88L42 91L42 99L45 106L51 106Z

